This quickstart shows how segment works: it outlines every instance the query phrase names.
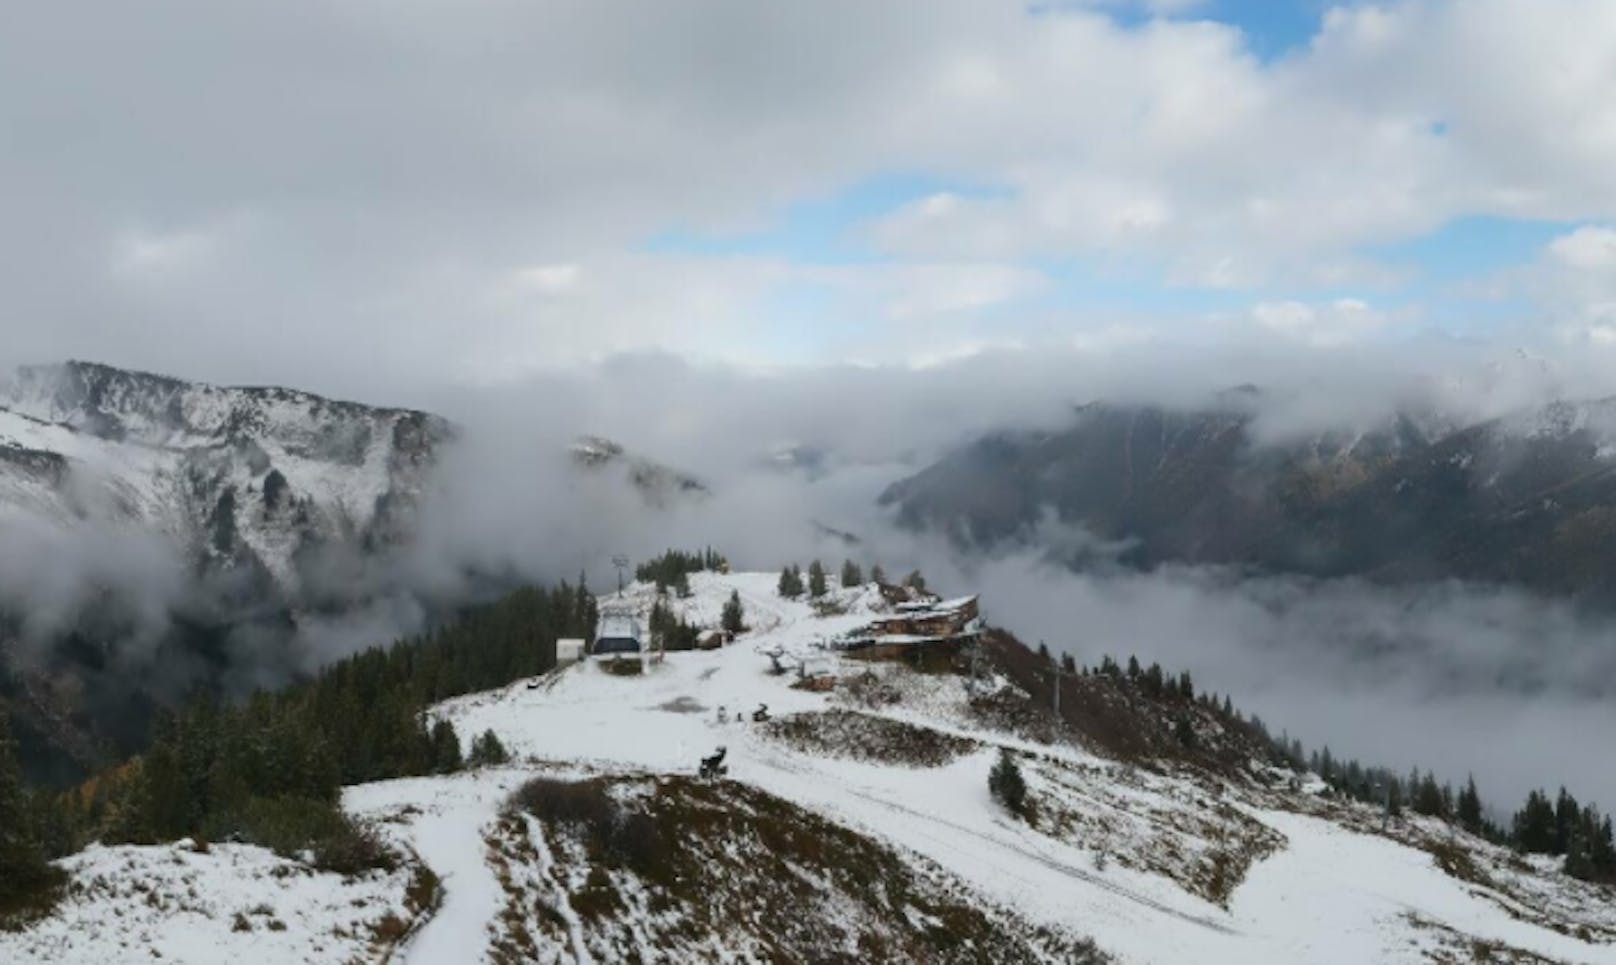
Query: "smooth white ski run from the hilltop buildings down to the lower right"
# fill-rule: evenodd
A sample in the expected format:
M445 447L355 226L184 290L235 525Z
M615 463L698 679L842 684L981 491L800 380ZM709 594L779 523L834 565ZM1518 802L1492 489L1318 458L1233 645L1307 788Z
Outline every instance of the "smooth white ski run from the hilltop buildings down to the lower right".
M1500 904L1477 897L1474 886L1443 874L1422 850L1260 802L1243 807L1286 844L1252 868L1228 908L1122 862L1099 868L1083 844L1054 841L1005 815L987 795L987 769L995 745L1070 761L1097 782L1123 781L1125 768L1075 747L1034 747L973 729L957 677L916 677L924 693L877 711L981 742L981 750L947 766L861 763L782 747L750 723L760 703L781 716L821 711L839 698L793 690L790 677L769 676L768 653L806 653L863 622L879 603L852 590L842 593L845 616L819 617L805 603L777 598L774 579L693 577L693 598L679 601L690 619L716 622L735 590L758 627L729 648L671 653L640 677L583 663L538 689L522 682L448 702L435 714L452 721L462 740L491 729L522 758L606 773L693 773L700 756L727 747L730 779L924 855L989 900L1092 936L1128 962L1424 962L1451 946L1445 929L1555 960L1616 962L1616 946L1511 918ZM635 587L625 598L648 609L651 592ZM737 711L745 723L735 721ZM1122 807L1180 807L1181 789L1159 784Z

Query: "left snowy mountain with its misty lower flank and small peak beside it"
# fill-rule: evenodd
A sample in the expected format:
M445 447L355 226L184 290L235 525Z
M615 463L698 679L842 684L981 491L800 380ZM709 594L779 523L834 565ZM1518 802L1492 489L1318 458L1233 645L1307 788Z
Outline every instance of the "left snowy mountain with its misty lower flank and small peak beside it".
M284 679L304 663L288 647L304 621L401 592L373 564L410 546L459 435L430 412L94 362L0 375L0 533L55 533L74 548L50 556L105 554L136 537L139 556L39 559L78 571L63 577L66 617L44 627L39 600L0 585L0 711L16 718L31 769L73 776L116 755L157 703L194 685ZM582 436L570 456L651 506L709 491L609 440ZM134 600L113 585L134 569L181 585ZM472 596L517 579L465 575ZM417 605L446 616L470 601Z

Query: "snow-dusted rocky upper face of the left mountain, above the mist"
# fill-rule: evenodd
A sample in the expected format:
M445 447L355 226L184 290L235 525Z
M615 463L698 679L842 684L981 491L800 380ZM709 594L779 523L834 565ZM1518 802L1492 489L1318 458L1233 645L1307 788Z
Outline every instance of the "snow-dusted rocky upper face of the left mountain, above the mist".
M281 388L223 388L89 362L0 380L0 514L131 527L289 595L297 556L407 527L448 425Z

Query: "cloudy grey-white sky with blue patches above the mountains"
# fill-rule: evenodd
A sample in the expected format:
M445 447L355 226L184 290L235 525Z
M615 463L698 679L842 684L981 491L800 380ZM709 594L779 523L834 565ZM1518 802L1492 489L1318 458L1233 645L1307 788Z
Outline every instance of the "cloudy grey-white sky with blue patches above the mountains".
M1600 0L29 5L0 354L378 401L635 352L1600 354L1613 92Z

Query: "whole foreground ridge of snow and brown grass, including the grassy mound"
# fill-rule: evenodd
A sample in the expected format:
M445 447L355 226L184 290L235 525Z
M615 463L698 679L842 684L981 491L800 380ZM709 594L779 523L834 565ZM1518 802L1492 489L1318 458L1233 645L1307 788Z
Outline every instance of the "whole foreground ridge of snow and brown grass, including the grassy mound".
M1616 962L1610 892L1545 862L1435 820L1382 829L1372 808L1256 756L1228 766L1123 760L1109 740L1050 727L1042 705L992 661L966 677L819 650L886 609L873 587L834 588L814 606L779 598L772 574L695 574L690 584L690 598L671 601L680 616L713 626L737 593L750 630L716 651L646 661L637 674L582 663L449 700L428 713L465 744L493 731L514 761L347 789L344 807L419 855L444 887L419 931L373 954ZM653 587L633 585L603 605L645 614L654 600ZM795 687L795 674L771 672L776 658L808 658L837 685ZM760 705L769 721L753 719ZM1207 747L1239 747L1212 718L1194 726ZM698 760L718 747L727 748L727 779L696 779ZM1029 820L989 795L1000 748L1026 776ZM509 808L533 777L593 782L621 813L648 818L648 857L614 858L587 823ZM213 850L208 874L241 862ZM124 857L163 853L103 849L95 860L116 868ZM187 865L204 860L183 855ZM375 908L402 907L402 879L377 887ZM220 928L223 899L212 917L179 907L120 915L116 894L126 889L76 891L45 923L0 936L0 959L92 960L71 942L42 944L63 917L118 936L126 957L158 947L165 960L299 962L343 960L354 949L335 938L354 929L352 915L322 918L325 899L278 894L270 904L280 918L317 938L273 946L257 931ZM199 931L210 938L207 955L186 952L184 936ZM322 931L333 936L328 955L310 950Z

